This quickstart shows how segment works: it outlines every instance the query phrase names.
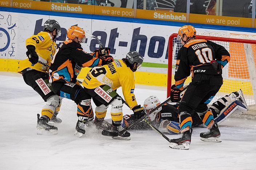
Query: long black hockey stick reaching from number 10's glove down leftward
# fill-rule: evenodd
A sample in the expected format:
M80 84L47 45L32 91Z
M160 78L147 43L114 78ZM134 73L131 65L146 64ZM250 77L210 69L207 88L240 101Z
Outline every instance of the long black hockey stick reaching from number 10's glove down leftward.
M183 92L184 90L186 90L188 88L188 86L185 86L183 88L183 90L181 90L181 92ZM137 120L135 123L130 124L127 128L123 129L120 132L116 132L115 136L119 136L122 133L124 133L125 131L127 131L128 129L130 129L132 126L134 126L135 124L139 123L141 120L145 119L148 115L150 115L151 113L153 113L154 111L156 111L157 109L159 109L161 106L163 106L165 103L169 102L171 100L170 97L168 97L163 103L161 103L160 105L158 105L157 107L155 107L155 109L151 110L150 112L146 113L144 116L142 116L139 120ZM103 130L102 133L107 134L108 131ZM109 136L109 135L105 135L105 136ZM113 137L115 137L113 136Z

